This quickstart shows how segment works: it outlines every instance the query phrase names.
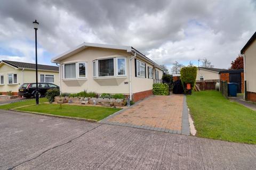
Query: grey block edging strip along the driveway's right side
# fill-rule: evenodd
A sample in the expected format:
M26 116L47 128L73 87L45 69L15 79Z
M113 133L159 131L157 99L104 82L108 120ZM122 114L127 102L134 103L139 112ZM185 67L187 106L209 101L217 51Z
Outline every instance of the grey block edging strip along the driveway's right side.
M188 120L188 106L187 106L187 97L186 97L186 95L184 95L184 98L183 98L181 134L185 134L185 135L190 134L189 120Z

